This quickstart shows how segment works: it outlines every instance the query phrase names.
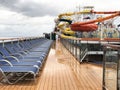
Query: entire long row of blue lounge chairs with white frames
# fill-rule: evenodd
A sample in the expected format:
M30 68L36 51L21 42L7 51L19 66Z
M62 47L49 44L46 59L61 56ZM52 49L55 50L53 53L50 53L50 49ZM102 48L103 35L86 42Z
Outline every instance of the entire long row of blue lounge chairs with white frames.
M0 43L0 72L2 83L15 84L38 75L52 45L45 38Z

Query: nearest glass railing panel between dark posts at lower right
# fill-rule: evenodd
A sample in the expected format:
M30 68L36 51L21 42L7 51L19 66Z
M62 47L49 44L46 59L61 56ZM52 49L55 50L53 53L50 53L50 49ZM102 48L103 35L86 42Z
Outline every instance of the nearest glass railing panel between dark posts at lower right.
M105 86L108 90L117 90L117 51L106 52Z

